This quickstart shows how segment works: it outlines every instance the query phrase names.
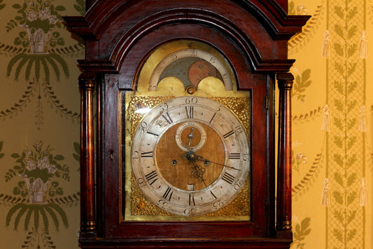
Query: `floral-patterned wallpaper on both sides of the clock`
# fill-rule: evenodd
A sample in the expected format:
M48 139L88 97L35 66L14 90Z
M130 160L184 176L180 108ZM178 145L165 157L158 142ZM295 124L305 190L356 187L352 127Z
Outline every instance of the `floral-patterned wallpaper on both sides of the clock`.
M78 248L83 0L0 0L0 247ZM371 0L289 0L292 249L373 248ZM371 54L371 55L370 55Z

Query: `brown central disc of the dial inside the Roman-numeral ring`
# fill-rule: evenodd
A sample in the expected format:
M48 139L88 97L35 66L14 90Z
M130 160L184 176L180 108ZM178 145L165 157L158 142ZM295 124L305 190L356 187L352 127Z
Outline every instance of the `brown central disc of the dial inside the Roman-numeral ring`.
M211 127L199 122L182 122L170 127L160 138L155 154L164 180L187 191L202 190L218 179L223 167L210 164L209 159L224 164L224 145Z

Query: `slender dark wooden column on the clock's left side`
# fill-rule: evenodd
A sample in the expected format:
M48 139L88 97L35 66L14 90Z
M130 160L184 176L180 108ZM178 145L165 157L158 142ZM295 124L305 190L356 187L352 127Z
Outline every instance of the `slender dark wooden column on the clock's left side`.
M80 239L96 237L92 93L96 76L82 73L80 88Z

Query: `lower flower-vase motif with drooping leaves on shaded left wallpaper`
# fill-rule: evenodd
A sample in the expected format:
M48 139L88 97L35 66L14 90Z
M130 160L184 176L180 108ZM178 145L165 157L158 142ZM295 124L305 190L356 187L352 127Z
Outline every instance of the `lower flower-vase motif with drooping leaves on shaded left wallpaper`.
M49 145L43 146L39 141L31 149L25 149L21 154L13 153L11 157L15 159L16 165L6 172L6 182L17 178L13 195L16 198L28 197L28 201L16 201L17 204L10 208L6 215L6 226L13 222L16 230L20 220L24 218L24 230L29 230L30 224L34 225L34 235L37 236L34 238L35 242L40 241L40 236L48 233L51 222L57 230L59 220L68 228L69 221L64 209L59 204L48 201L50 197L64 194L63 188L59 185L60 179L70 180L69 166L60 164L64 156L53 155L52 148Z

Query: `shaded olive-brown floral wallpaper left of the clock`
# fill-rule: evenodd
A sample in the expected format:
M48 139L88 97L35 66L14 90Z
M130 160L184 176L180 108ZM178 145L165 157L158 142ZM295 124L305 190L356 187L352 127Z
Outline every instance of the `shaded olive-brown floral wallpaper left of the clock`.
M1 248L78 248L84 45L62 15L84 4L0 1Z

